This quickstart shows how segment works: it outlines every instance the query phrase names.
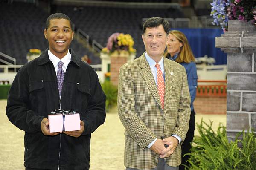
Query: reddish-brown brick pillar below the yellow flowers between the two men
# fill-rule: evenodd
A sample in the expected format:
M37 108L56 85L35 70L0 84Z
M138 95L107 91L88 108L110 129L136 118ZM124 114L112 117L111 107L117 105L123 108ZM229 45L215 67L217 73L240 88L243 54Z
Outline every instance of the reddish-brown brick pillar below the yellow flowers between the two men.
M110 81L113 85L118 86L119 69L127 63L127 57L111 56L110 61Z

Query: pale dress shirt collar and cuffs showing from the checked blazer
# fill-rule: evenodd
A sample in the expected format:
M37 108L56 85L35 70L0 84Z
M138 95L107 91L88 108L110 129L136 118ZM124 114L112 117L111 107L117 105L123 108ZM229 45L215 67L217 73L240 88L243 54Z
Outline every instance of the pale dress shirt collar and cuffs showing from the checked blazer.
M151 68L151 71L152 71L152 74L154 76L154 80L155 80L155 82L157 84L157 67L155 67L157 63L151 57L149 57L147 52L145 52L145 57L146 57L146 60L148 61L148 64L149 64L149 66ZM161 69L161 71L163 73L163 79L164 79L163 57L158 62L158 64L160 65L160 69ZM172 136L177 138L179 140L179 144L180 144L180 142L182 141L180 136L175 135L175 134L173 134ZM154 141L152 141L147 147L150 148L156 141L157 141L157 138L155 138Z

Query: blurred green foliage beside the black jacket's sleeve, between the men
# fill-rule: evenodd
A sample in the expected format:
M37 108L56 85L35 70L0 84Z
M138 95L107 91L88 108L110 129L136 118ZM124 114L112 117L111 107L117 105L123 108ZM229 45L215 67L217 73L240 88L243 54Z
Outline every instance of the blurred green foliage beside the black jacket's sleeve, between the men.
M103 91L106 95L106 110L116 105L117 102L117 86L114 86L110 81L104 81L101 84Z

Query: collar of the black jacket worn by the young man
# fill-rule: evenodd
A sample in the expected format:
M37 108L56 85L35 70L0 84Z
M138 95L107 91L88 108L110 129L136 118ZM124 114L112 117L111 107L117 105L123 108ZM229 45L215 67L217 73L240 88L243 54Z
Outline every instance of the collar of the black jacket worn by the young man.
M48 49L44 50L42 54L38 58L38 65L44 65L45 63L49 62L49 56L48 56ZM77 66L81 66L80 59L77 57L76 53L73 51L73 49L69 49L71 51L71 61L73 61Z

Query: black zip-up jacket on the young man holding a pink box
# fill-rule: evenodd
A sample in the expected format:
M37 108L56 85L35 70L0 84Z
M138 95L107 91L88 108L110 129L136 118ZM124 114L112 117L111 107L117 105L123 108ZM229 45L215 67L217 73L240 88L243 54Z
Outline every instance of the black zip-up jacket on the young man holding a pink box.
M8 94L6 115L25 131L25 162L29 168L49 170L88 170L90 136L105 121L105 94L94 69L71 50L61 92L48 49L17 72ZM84 121L78 138L64 133L45 136L41 121L54 109L75 110ZM60 154L59 154L60 153Z

